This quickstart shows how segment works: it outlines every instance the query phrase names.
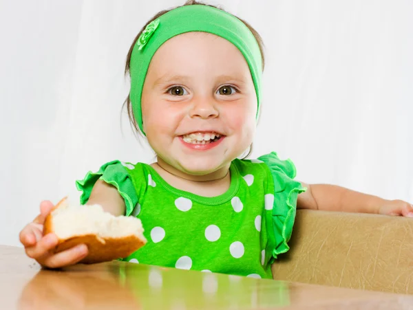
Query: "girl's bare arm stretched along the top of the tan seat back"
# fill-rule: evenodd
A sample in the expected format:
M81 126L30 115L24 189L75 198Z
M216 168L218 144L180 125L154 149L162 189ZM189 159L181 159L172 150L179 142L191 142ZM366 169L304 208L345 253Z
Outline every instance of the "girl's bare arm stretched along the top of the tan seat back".
M301 184L308 188L298 196L297 208L359 212L413 217L413 206L401 200L386 200L335 185Z

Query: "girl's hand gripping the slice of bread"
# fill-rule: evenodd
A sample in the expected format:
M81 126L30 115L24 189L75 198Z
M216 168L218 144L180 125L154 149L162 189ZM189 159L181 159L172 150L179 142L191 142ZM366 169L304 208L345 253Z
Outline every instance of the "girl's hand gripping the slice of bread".
M50 201L43 201L40 204L41 214L21 230L20 242L24 245L26 254L43 267L59 268L74 265L87 256L86 245L77 245L72 249L53 254L52 249L59 242L57 236L52 233L43 236L43 224L53 207Z

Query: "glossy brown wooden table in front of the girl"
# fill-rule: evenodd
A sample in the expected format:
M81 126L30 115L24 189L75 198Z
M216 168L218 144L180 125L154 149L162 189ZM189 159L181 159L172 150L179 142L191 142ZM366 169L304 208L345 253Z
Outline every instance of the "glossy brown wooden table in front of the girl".
M413 309L413 296L134 263L41 269L0 245L0 309Z

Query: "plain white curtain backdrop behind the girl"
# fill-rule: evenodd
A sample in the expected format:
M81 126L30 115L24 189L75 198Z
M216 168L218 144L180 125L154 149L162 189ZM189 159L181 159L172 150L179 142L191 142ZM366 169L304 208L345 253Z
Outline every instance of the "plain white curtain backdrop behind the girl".
M151 162L123 100L127 51L184 0L0 0L0 244L42 199L112 159ZM413 201L413 2L210 1L266 45L253 157L291 158L297 179Z

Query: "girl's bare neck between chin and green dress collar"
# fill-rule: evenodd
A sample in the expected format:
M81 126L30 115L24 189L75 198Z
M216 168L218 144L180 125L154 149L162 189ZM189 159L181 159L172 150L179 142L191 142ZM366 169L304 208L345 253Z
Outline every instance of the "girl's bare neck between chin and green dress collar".
M165 173L173 175L174 177L178 177L180 179L184 179L187 181L195 181L195 182L208 182L208 181L219 181L224 179L227 175L229 175L229 166L227 164L224 167L219 168L218 170L213 171L212 173L207 173L206 175L191 175L189 173L185 173L167 162L165 162L162 158L158 157L158 161L156 165L160 167Z

